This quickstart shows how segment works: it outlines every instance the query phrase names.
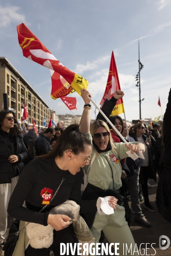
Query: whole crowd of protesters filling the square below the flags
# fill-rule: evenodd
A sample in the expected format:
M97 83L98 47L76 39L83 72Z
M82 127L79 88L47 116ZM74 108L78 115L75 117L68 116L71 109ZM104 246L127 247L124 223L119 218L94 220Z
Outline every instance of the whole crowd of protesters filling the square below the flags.
M43 128L37 135L34 129L25 127L21 130L14 112L0 112L0 256L4 255L2 249L7 236L8 213L20 220L19 229L25 221L54 229L52 243L48 247L35 248L28 244L22 256L47 256L50 250L54 255L60 255L60 243L74 246L78 240L72 218L65 213L50 212L67 200L75 201L80 207L79 214L86 221L96 243L102 242L106 236L110 243L123 241L128 245L134 244L129 228L131 214L128 198L131 211L135 214L134 220L151 227L140 201L144 197L144 208L156 211L149 201L148 179L156 181L157 175L160 178L157 207L171 222L171 194L168 192L171 191L168 118L171 114L171 92L164 122L160 125L147 126L142 120L131 125L120 116L110 116L117 100L124 96L120 90L104 102L101 110L128 141L128 146L101 113L90 126L91 95L82 89L81 96L85 104L80 127L74 124L65 130L63 123L58 122L55 129ZM133 160L128 157L128 150L131 154L142 151L145 159ZM85 188L82 196L81 183ZM99 197L108 198L114 209L115 214L110 219L97 211ZM46 207L42 210L44 205ZM119 252L122 255L122 248ZM72 255L71 251L67 255Z

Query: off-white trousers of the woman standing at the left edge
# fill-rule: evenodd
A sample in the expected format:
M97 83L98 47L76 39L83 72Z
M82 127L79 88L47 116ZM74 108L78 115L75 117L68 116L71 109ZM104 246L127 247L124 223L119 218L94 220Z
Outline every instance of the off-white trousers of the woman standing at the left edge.
M12 183L0 184L0 244L6 238L7 218L8 218L8 204L12 192L17 184L19 175L12 178Z

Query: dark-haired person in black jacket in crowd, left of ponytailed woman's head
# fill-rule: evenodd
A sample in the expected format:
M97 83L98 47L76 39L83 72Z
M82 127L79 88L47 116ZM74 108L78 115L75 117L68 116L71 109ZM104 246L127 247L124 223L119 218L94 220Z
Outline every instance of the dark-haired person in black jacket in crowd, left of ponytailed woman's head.
M48 154L51 151L50 140L53 137L53 131L54 129L52 127L48 127L42 135L39 134L37 141L37 151L39 156Z

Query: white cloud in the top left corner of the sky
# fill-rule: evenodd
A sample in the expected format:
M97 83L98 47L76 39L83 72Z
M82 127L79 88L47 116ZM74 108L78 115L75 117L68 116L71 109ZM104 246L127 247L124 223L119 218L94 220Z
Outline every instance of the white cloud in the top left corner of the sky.
M12 22L26 23L25 15L18 13L19 10L20 7L11 6L10 4L6 7L0 6L0 27L7 27Z

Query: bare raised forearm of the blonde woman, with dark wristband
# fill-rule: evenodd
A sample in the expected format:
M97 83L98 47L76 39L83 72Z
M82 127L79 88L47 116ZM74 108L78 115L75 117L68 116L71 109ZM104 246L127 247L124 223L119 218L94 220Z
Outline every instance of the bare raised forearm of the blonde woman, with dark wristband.
M80 123L80 131L84 133L89 133L90 132L90 93L85 90L81 89L81 97L84 100L84 111L82 113L81 117L81 123Z

